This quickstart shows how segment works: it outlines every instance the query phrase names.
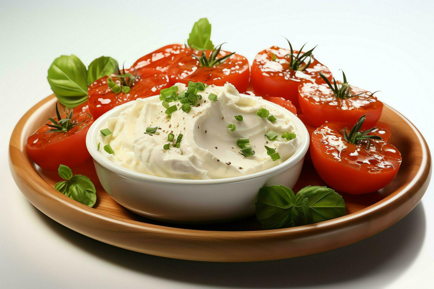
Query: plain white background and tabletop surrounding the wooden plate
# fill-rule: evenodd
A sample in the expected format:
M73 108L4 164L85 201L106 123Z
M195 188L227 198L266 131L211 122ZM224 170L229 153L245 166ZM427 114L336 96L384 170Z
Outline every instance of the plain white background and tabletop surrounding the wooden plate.
M206 16L214 44L227 42L225 50L250 62L264 48L285 46L282 36L296 47L319 44L320 62L335 75L342 68L351 84L381 90L378 97L406 115L434 151L433 1L38 2L0 5L0 287L432 286L433 184L407 217L357 244L289 260L201 263L112 247L47 218L14 184L7 144L19 118L51 94L46 71L54 58L73 53L89 64L108 55L127 67L183 43Z

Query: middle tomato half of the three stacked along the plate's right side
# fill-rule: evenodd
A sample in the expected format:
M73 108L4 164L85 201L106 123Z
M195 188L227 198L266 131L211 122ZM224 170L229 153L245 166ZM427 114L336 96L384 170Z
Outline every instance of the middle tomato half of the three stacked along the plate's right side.
M368 91L351 86L352 94L364 94L337 98L327 84L304 83L299 86L299 107L306 123L319 127L327 121L356 123L365 114L363 128L374 127L381 117L383 103Z

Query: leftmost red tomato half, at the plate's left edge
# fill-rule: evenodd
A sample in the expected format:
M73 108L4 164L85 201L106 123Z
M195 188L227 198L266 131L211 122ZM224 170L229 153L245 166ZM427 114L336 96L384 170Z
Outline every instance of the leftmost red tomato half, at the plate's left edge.
M81 123L66 132L49 132L53 127L43 125L27 139L26 150L38 166L47 170L56 170L59 165L70 168L79 165L90 157L86 148L86 133L93 118L89 117L87 103L74 108L72 123ZM66 118L63 114L62 119ZM57 118L54 118L58 121ZM47 123L53 124L50 121Z

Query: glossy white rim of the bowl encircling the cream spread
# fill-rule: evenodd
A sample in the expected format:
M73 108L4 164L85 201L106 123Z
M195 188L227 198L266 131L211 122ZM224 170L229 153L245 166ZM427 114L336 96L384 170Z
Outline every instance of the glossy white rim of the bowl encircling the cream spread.
M252 95L249 94L241 94L241 95L252 97ZM154 95L154 96L140 98L140 99L151 101L157 97L159 97L159 95ZM271 177L274 175L278 175L279 173L286 171L287 169L292 168L304 158L304 156L307 153L307 150L309 149L310 137L306 126L295 114L293 114L286 108L281 107L278 104L267 101L263 98L262 100L265 101L267 105L271 105L277 110L283 112L284 114L288 114L290 116L291 120L294 123L296 123L297 130L301 129L301 133L303 135L303 142L296 150L296 152L289 157L289 159L286 159L284 162L281 162L278 165L273 166L269 169L260 172L255 172L253 174L230 177L230 178L222 178L222 179L174 179L174 178L160 177L155 175L146 175L141 172L135 172L110 161L104 155L102 155L102 153L98 151L95 144L96 133L98 133L99 128L102 127L110 117L112 117L113 115L118 115L123 110L126 110L128 107L131 107L132 105L135 104L137 99L133 101L129 101L125 104L121 104L117 107L114 107L111 110L107 111L105 114L102 114L102 116L100 116L98 119L94 120L91 126L89 127L89 131L86 135L86 147L87 150L89 151L89 154L92 156L92 159L95 162L97 162L100 166L116 173L117 175L121 175L125 178L134 179L137 181L168 183L168 184L178 184L178 185L181 184L182 185L217 185L217 184L225 184L225 183L244 182L250 179L257 179L266 176Z

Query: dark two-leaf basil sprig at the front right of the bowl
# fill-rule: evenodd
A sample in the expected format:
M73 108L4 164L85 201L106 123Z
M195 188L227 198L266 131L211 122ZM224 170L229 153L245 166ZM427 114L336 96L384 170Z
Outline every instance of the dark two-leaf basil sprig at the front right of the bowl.
M345 215L345 202L335 190L307 186L297 195L283 185L263 187L256 202L256 218L263 228L296 227Z

